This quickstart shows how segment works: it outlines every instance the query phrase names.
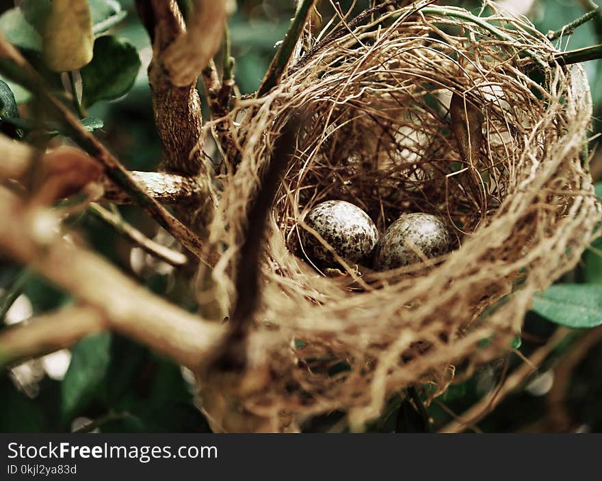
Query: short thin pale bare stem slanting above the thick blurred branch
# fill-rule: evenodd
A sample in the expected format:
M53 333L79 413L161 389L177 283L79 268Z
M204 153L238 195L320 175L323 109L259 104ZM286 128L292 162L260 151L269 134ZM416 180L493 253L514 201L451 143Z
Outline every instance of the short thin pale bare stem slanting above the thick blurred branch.
M158 244L152 239L148 239L146 235L138 231L134 226L128 224L121 216L117 216L96 203L90 204L88 211L92 216L106 222L120 233L120 235L142 248L144 252L148 252L148 254L157 257L157 259L161 259L161 261L165 261L168 264L175 266L184 265L186 263L187 258L181 252L177 252L176 250Z

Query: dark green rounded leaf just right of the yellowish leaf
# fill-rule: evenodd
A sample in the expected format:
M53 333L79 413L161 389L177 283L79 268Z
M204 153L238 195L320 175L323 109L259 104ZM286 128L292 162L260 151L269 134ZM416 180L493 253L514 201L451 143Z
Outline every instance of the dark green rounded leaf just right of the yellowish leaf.
M89 107L99 100L113 100L127 94L140 70L140 56L135 47L114 36L94 42L94 58L83 67L82 103Z

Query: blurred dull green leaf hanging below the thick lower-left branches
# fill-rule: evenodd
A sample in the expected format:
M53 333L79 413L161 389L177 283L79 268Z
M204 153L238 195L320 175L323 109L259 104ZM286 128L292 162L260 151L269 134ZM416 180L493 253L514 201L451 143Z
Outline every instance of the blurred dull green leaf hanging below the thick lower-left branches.
M110 346L111 335L103 333L81 339L73 348L71 363L61 384L62 419L65 422L102 397Z

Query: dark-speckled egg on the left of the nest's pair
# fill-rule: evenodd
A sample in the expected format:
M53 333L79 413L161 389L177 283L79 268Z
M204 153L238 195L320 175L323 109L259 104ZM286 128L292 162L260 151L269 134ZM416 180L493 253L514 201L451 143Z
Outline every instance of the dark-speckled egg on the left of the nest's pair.
M311 229L349 263L365 264L378 243L374 222L362 209L344 200L327 200L316 205L304 219ZM332 252L309 231L299 228L306 257L323 267L338 265Z

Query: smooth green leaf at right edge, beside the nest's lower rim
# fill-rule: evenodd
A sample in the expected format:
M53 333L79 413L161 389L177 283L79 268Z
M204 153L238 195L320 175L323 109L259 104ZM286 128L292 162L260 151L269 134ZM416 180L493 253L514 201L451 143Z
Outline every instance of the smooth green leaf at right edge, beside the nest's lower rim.
M553 285L543 294L536 294L533 311L562 326L599 326L602 324L602 285Z

